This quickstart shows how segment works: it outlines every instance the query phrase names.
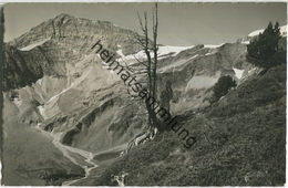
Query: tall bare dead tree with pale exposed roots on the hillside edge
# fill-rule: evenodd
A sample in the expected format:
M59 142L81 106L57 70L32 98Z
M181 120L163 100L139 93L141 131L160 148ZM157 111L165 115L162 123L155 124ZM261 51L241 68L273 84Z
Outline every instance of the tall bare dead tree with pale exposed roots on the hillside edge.
M141 46L142 51L145 54L145 60L140 60L135 56L135 60L138 63L137 69L133 69L134 75L144 76L144 83L146 84L147 94L150 98L157 100L157 62L158 62L158 44L157 44L157 32L158 32L158 10L157 3L155 3L155 8L153 9L153 18L152 18L152 38L150 36L148 29L148 19L147 12L144 12L143 17L137 13L138 23L141 29L141 34L135 34L133 36L134 43ZM155 103L151 104L148 100L145 100L145 107L147 111L147 122L148 126L144 133L140 133L132 142L128 144L127 150L131 147L145 143L147 139L152 139L158 127L161 126L161 121L157 118L155 113Z

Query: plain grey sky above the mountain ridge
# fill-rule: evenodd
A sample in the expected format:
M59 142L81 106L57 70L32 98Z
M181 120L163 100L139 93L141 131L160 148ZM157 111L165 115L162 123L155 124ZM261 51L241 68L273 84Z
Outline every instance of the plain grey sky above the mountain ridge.
M152 12L153 3L8 3L4 41L11 41L60 13L105 20L138 30L137 12ZM162 2L158 3L158 42L165 45L235 42L268 22L287 24L284 2Z

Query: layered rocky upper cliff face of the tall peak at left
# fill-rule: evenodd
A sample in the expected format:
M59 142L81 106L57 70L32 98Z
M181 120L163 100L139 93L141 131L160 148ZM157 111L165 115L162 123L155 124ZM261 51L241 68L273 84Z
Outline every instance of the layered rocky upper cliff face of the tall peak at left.
M106 21L60 14L6 45L4 88L31 85L43 75L65 77L65 65L89 55L97 40L112 52L121 46L123 54L135 53L138 46L128 40L134 34Z

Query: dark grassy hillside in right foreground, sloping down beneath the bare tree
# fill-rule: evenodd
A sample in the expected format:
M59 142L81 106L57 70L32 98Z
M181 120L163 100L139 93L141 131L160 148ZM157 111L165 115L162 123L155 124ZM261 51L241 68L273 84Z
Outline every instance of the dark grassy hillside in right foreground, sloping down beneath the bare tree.
M181 116L197 143L185 149L174 133L112 163L93 185L275 186L285 182L286 66L255 75L197 116Z

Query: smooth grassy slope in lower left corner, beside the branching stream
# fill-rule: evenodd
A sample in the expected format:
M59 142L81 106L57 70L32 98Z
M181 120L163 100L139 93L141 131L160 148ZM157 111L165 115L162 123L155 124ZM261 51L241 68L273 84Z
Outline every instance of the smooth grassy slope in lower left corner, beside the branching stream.
M6 186L59 185L84 171L58 150L52 140L18 122L18 108L4 100L3 169Z

